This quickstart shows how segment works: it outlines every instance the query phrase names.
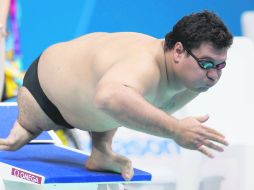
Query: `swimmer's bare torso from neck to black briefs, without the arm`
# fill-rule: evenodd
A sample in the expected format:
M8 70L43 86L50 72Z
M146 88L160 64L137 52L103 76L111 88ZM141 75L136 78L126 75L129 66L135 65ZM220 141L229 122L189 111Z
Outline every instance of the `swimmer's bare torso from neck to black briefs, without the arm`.
M154 59L151 63L160 67L161 40L138 33L89 34L49 47L39 62L39 81L45 94L72 126L83 130L109 130L120 124L94 106L96 86L111 67L131 56L138 59L139 54L146 53ZM121 72L132 77L132 68L132 65L124 65ZM160 76L154 73L150 80L153 77L160 80L144 97L170 112L177 103L173 98L176 93L166 89L162 72Z

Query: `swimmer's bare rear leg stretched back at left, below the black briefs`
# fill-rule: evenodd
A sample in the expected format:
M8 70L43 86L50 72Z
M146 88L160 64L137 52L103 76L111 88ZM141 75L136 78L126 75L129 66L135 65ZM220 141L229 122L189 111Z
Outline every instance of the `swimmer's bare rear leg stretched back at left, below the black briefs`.
M0 139L0 150L17 150L36 138L42 131L56 127L24 87L19 90L18 110L18 119L10 134L6 139Z

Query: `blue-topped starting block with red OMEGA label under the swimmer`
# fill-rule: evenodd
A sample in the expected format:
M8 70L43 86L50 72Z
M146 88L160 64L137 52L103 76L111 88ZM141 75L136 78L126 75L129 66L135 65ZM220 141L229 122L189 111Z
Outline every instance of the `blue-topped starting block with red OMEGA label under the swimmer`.
M16 104L0 105L0 138L9 134L17 113ZM151 181L151 174L138 169L128 182L117 173L89 171L84 167L87 155L56 139L54 133L43 132L15 152L0 151L2 189L119 190L125 183Z

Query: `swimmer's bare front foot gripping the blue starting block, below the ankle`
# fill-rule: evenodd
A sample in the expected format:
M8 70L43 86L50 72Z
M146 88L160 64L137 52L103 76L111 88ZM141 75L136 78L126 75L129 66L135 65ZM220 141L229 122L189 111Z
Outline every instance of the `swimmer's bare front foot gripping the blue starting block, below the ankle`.
M131 180L134 174L132 163L128 158L108 150L99 151L94 148L85 165L89 170L121 173L125 180Z

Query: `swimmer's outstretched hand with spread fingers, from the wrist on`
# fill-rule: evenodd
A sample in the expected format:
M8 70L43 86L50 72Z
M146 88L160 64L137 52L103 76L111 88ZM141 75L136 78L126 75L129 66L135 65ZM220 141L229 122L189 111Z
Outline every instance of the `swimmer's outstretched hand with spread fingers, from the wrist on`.
M187 117L179 120L179 125L174 132L174 140L180 146L199 150L206 156L213 158L208 148L223 152L223 148L214 142L228 145L225 137L214 129L206 127L203 123L209 119L208 115L200 117Z

